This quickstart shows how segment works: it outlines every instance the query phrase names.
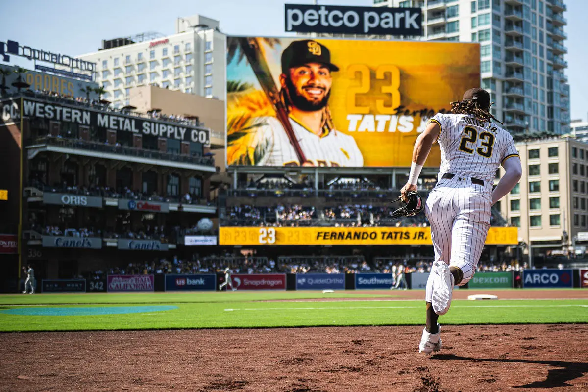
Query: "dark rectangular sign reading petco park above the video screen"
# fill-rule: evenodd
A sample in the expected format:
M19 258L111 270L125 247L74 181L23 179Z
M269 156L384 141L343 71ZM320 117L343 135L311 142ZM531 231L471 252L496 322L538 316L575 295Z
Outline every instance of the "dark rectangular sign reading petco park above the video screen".
M286 4L287 32L422 35L420 8Z

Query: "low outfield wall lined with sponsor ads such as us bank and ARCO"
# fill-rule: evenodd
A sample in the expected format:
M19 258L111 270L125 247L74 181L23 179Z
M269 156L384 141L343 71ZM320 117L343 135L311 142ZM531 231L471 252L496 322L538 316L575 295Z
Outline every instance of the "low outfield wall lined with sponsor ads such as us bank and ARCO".
M425 289L429 273L407 273L409 289ZM103 279L43 279L41 292L163 292L215 291L225 274L108 275ZM392 274L233 274L236 290L387 290L396 281ZM35 282L35 286L38 283ZM478 272L459 289L509 289L582 287L588 289L588 270L524 270ZM457 288L457 286L456 286Z

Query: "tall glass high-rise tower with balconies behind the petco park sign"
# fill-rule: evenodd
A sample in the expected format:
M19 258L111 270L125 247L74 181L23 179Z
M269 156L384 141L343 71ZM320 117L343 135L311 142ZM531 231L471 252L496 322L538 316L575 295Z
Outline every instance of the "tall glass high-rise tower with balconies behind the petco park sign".
M479 42L482 87L512 133L569 132L562 0L374 0L423 10L426 41Z

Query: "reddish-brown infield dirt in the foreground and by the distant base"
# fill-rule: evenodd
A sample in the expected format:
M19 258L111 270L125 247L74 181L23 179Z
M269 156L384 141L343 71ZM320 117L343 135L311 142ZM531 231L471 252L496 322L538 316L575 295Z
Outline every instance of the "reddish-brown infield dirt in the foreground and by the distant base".
M499 290L485 293L506 299ZM588 290L505 293L588 297ZM423 296L422 290L393 294ZM5 333L0 391L588 390L588 324L445 326L444 347L431 357L417 353L421 331L405 326Z

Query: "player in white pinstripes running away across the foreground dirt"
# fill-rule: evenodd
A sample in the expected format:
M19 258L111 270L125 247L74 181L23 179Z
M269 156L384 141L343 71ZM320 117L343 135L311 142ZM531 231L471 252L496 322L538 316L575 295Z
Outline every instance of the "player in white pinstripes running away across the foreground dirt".
M438 182L425 205L435 262L425 292L427 317L420 353L442 347L437 319L449 310L453 286L472 279L490 227L490 208L521 176L515 142L490 114L491 105L485 90L469 89L462 100L452 102L450 113L433 116L416 139L409 180L402 188L405 200L416 191L433 143L438 142L441 150ZM499 165L506 174L493 189Z

